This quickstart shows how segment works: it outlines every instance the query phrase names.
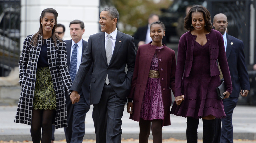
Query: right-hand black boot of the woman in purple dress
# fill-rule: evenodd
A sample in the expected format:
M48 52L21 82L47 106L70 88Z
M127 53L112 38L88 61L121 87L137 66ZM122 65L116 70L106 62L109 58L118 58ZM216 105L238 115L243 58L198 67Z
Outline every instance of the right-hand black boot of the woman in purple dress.
M212 143L215 135L215 119L203 119L203 143Z

